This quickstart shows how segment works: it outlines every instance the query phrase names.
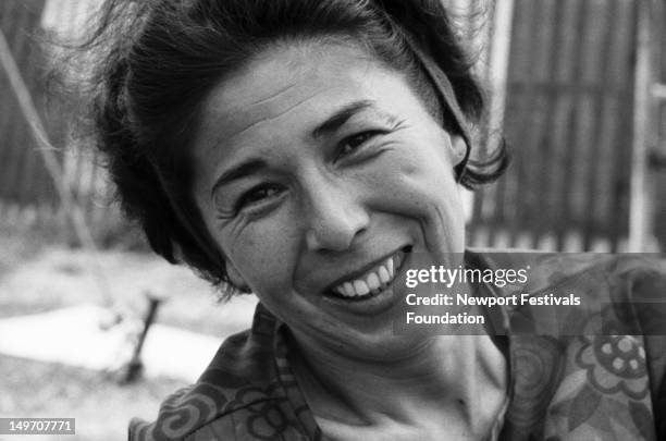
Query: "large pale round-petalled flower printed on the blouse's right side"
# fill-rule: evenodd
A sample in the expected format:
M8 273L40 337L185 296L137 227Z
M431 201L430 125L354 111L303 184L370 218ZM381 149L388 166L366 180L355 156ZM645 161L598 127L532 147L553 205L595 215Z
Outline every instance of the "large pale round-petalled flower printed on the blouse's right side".
M634 400L648 394L645 350L632 335L581 336L576 359L588 379L603 393L626 393Z

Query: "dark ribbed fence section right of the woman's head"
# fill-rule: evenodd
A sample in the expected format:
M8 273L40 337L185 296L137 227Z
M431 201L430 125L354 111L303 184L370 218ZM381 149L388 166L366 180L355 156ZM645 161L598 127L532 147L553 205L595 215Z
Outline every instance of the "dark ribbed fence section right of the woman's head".
M637 24L639 5L649 1L510 3L503 128L513 167L477 194L470 240L626 249L641 86L634 76Z

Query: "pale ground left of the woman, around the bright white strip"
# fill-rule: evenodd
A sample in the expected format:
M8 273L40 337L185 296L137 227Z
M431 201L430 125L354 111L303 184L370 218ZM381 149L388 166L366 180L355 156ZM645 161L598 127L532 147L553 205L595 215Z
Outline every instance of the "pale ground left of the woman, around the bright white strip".
M220 304L209 285L192 271L146 252L112 247L92 254L38 234L0 229L0 319L83 303L112 305L128 319L137 319L146 310L146 293L165 298L158 322L219 336L220 341L248 327L254 305L250 298ZM2 354L0 378L0 417L76 418L75 437L24 437L30 441L125 439L131 417L155 418L159 403L185 385L168 378L120 385L118 378L108 373ZM20 438L0 434L0 439Z

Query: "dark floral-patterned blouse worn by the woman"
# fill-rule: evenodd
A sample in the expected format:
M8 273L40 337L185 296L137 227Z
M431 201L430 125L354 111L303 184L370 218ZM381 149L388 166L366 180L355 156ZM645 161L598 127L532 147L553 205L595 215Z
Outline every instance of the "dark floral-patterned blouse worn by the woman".
M493 322L510 381L508 406L488 440L666 440L663 268L627 256L466 254L477 268L518 267L535 256L546 270L530 278L531 295L576 290L601 306L592 315L567 309L558 317L566 332L557 333L544 332L529 308L498 309ZM259 304L251 329L227 339L196 384L163 402L155 422L132 420L130 440L324 440L287 363L282 329Z

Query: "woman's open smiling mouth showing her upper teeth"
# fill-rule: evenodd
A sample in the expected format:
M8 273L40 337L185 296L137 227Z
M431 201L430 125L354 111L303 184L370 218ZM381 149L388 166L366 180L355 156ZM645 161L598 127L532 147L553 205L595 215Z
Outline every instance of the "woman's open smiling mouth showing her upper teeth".
M404 260L405 249L400 249L368 271L338 282L329 291L337 297L355 301L377 295L395 280Z

